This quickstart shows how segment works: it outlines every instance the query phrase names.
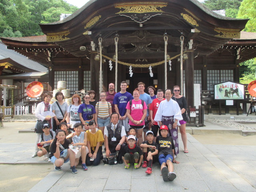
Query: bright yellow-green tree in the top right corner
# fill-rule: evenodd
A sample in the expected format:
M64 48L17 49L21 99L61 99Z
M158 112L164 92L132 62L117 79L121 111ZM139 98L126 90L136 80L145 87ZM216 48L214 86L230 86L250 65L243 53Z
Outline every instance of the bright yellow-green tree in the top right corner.
M256 1L255 0L243 0L238 11L237 18L250 19L244 31L256 32Z

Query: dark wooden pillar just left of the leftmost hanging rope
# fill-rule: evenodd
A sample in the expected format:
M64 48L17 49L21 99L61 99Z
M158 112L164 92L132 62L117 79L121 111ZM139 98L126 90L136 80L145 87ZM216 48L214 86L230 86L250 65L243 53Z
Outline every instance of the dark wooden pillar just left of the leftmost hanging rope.
M91 54L91 90L96 92L95 100L99 100L99 76L100 76L100 62L96 61L94 58L97 53Z

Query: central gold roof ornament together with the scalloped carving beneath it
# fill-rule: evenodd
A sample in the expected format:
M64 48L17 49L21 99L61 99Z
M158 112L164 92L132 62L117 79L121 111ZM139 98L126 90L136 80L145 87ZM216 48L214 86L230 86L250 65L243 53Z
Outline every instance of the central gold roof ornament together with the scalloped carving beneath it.
M164 2L139 2L116 4L115 8L124 9L116 14L131 18L137 23L143 23L150 18L161 15L164 11L158 8L166 7Z

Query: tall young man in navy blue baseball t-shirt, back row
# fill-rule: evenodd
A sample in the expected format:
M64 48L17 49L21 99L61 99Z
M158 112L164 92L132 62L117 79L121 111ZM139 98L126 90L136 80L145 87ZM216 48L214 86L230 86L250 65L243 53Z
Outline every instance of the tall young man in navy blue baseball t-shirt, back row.
M126 105L132 100L132 94L126 92L126 81L121 82L121 91L114 96L113 104L115 105L116 113L119 114L119 123L124 126L126 132L129 131L129 118L126 116Z

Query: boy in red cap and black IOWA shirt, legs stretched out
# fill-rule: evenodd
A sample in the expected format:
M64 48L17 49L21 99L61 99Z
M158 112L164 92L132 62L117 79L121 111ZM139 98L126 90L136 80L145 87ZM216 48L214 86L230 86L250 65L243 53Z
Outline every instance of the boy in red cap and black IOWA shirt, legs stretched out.
M160 134L156 137L156 143L158 144L158 160L161 165L163 180L173 181L176 178L176 173L173 172L172 162L176 164L180 162L174 160L174 144L172 136L167 136L168 127L166 125L160 127Z

